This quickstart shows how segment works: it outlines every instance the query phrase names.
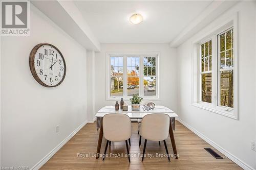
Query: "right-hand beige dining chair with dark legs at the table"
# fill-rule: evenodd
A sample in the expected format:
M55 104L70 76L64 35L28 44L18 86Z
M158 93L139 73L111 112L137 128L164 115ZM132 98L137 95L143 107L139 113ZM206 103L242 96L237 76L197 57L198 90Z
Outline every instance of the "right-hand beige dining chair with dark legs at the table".
M144 159L147 140L151 140L151 141L163 140L164 147L167 153L167 158L170 162L169 153L168 153L167 145L165 142L165 139L167 139L169 134L169 126L170 126L170 117L168 114L153 113L153 114L147 114L142 118L142 121L139 127L140 142L141 142L141 137L145 139L142 161Z

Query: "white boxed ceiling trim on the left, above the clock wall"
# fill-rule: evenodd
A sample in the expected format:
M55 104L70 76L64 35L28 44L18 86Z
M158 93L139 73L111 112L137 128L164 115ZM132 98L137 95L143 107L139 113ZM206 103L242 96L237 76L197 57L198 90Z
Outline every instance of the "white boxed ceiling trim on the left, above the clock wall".
M84 48L100 51L100 42L72 1L31 1L31 3Z

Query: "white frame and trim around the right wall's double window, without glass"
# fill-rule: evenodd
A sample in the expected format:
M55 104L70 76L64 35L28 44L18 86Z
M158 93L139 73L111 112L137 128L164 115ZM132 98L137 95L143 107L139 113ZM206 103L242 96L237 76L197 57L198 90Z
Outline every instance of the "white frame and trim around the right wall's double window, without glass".
M228 108L224 106L218 106L218 35L226 32L227 30L233 28L233 108ZM200 55L200 45L207 40L212 40L212 103L201 102L201 56ZM199 38L193 42L193 53L192 53L192 95L191 95L191 105L205 109L217 114L221 114L233 119L239 119L238 116L238 13L228 18L225 22L221 23L218 27L207 34L204 34L203 38Z

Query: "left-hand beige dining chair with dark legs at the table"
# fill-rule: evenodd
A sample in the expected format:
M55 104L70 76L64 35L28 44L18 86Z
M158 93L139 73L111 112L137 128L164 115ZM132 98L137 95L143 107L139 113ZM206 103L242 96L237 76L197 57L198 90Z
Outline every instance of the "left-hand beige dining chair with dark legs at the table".
M132 135L132 123L129 116L122 113L110 113L103 116L102 120L103 135L106 139L106 147L103 155L103 161L108 149L109 141L125 141L128 159L130 161L128 142Z

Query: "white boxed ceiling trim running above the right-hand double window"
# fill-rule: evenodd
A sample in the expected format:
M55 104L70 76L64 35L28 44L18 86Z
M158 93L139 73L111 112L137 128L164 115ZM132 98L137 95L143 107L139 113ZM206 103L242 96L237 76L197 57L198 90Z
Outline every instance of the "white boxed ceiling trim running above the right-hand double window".
M212 2L197 18L190 22L190 24L172 42L169 43L170 47L179 46L238 2L239 1Z

